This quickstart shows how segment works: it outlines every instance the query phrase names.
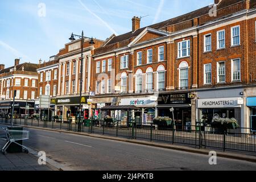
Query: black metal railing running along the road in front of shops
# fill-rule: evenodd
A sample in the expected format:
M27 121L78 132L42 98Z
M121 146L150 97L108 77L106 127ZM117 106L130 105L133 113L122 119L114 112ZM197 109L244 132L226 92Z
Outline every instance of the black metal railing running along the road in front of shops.
M0 123L10 124L11 119L0 118ZM14 125L44 127L56 130L79 131L79 123L73 119L14 118ZM246 131L246 132L244 132ZM249 128L238 127L217 130L212 127L172 125L160 127L154 124L142 125L136 122L105 122L97 119L83 119L81 132L109 135L127 139L148 140L169 144L182 144L195 148L218 148L220 150L256 152L256 136Z

